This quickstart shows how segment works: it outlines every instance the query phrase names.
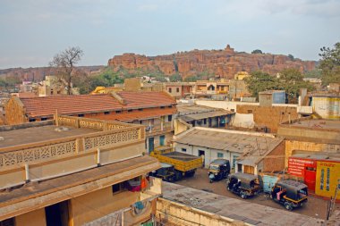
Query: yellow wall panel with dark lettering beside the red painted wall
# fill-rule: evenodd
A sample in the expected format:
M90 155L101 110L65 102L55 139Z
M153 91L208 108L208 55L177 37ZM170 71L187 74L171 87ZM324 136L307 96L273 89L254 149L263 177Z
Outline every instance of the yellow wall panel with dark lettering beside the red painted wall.
M329 183L328 188L327 180ZM340 162L336 163L318 161L315 194L321 197L334 197L337 180L340 180ZM336 199L340 199L340 191L337 193Z

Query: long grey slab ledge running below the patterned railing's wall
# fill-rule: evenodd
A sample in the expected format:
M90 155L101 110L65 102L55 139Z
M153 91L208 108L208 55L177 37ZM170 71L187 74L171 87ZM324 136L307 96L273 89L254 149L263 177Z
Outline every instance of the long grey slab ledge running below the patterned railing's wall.
M28 183L24 186L21 186L21 188L13 188L13 190L10 191L4 190L0 192L0 206L20 202L22 199L26 200L30 197L43 196L53 193L55 190L72 188L77 185L88 183L89 181L106 178L121 172L136 169L141 166L146 166L151 163L157 163L157 159L150 156L140 156L129 160L124 160L119 163L111 163L83 172L72 173L55 179L44 180L38 183ZM142 173L147 172L140 172L140 174ZM115 181L113 181L113 183L115 183ZM67 196L67 194L65 196ZM70 197L67 199L70 199Z

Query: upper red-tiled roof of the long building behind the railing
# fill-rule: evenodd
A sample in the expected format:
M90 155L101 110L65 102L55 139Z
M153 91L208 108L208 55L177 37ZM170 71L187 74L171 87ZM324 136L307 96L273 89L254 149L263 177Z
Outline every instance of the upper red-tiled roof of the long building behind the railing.
M124 105L109 94L45 96L20 98L30 117L50 116L57 110L60 114L97 113L130 108L148 108L174 105L171 96L163 92L119 92Z

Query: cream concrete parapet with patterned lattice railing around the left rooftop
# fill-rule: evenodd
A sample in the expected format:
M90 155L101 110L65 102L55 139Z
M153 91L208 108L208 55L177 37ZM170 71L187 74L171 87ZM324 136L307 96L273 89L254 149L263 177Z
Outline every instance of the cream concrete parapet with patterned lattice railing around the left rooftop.
M70 118L70 121L63 121L62 124L73 122L76 123ZM89 127L93 125L97 127L99 124ZM20 185L25 181L80 172L143 154L143 126L115 122L103 125L104 130L89 134L0 148L0 189ZM115 126L125 128L113 129Z

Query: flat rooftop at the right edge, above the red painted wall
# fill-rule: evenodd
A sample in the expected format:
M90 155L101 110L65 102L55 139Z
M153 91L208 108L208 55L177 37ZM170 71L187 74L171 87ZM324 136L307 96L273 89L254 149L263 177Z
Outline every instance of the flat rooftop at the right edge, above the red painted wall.
M296 127L305 127L305 128L310 128L310 129L340 130L340 121L336 121L336 120L309 119L309 120L303 120L303 121L295 121L289 125L296 126Z

